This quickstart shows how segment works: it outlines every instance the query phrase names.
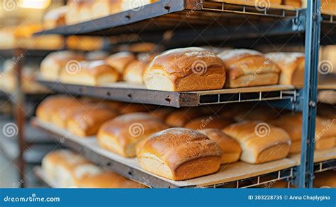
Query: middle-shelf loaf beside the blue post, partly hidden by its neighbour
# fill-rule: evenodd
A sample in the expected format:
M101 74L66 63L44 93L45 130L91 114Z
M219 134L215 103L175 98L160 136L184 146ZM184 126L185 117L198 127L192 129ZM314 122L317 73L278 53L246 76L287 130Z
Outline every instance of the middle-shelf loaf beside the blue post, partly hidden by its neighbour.
M265 55L281 69L279 84L303 86L305 55L301 52L271 52Z

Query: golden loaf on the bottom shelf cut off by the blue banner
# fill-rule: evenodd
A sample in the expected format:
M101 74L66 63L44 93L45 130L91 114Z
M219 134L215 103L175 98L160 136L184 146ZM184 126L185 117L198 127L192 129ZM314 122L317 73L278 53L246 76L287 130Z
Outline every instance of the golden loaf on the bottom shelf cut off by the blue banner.
M131 181L111 171L91 174L77 180L77 187L86 189L142 189L142 184Z

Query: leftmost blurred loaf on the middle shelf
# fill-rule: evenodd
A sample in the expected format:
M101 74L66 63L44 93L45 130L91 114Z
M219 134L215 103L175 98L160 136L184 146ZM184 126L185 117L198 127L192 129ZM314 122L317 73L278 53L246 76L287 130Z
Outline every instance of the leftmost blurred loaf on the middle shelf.
M55 81L60 77L60 72L71 62L84 60L84 55L72 51L51 52L41 62L41 76L46 80Z

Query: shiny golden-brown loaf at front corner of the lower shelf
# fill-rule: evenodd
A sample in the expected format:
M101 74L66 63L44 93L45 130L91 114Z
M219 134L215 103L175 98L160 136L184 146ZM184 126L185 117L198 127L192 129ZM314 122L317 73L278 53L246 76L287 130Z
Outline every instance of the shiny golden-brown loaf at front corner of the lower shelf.
M138 153L142 169L172 180L186 180L217 172L223 153L196 130L170 128L155 133Z

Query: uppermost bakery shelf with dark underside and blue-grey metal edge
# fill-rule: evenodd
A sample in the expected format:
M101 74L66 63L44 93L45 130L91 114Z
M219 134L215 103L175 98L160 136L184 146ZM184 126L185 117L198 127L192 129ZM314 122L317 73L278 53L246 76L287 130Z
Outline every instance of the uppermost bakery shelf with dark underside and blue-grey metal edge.
M126 33L140 35L181 28L220 27L226 25L226 23L236 23L236 25L238 23L240 25L240 23L246 21L245 16L248 16L250 22L258 22L254 25L256 27L254 32L259 35L264 35L271 30L282 31L283 33L295 33L298 30L304 30L304 27L300 27L302 21L298 21L301 12L291 6L271 6L269 9L260 10L254 4L248 4L244 1L162 0L143 6L141 9L123 11L72 26L43 30L35 33L35 35L121 35ZM217 21L213 21L214 18ZM276 26L273 26L274 19L279 21ZM261 20L266 25L262 23L259 28ZM281 24L283 20L286 21ZM272 26L274 28L269 30ZM240 27L244 28L244 26ZM237 29L237 27L235 28ZM225 31L223 29L221 33L223 34ZM229 30L229 32L232 32L232 30Z

